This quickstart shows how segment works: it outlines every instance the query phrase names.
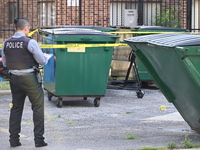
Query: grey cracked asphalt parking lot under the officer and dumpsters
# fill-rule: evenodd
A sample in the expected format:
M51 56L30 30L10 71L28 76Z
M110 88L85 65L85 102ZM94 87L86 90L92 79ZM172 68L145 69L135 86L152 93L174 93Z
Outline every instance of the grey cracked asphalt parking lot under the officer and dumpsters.
M56 107L56 98L45 97L44 150L130 150L146 146L167 147L169 142L178 146L188 135L192 143L200 143L200 135L192 131L175 107L159 90L144 90L143 99L135 91L107 90L100 107L93 106L94 98L70 98L63 100L63 107ZM11 95L0 96L0 145L9 145L8 119ZM160 110L165 105L166 110ZM137 139L125 139L136 135ZM33 140L33 122L30 103L25 103L22 146L15 149L36 149ZM12 148L13 149L13 148Z

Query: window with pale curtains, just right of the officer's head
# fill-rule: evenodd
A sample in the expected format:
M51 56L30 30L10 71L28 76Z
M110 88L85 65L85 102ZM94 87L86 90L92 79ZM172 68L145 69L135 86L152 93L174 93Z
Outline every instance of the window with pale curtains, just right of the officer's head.
M53 2L40 3L40 26L55 25L55 7Z

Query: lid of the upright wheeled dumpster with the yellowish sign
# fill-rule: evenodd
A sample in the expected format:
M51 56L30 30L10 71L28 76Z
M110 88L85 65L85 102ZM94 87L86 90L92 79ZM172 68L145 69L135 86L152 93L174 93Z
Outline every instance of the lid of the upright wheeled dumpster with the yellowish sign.
M93 29L83 28L56 28L56 29L39 29L39 33L53 35L98 35L98 36L116 36L106 32L101 32ZM116 36L118 37L118 36Z

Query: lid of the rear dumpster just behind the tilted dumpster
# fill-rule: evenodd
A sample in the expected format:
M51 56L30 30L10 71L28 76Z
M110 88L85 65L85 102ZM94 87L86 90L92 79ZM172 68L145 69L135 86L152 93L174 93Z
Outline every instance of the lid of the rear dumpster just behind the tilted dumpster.
M163 26L135 26L131 30L166 30L166 31L188 31L182 28L163 27Z

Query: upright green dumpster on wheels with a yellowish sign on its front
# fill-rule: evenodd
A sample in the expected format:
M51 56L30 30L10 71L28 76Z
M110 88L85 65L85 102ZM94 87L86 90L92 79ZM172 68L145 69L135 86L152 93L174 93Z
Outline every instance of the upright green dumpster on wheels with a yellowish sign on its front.
M90 29L41 29L45 44L106 44L115 43L118 36ZM44 88L48 98L58 97L57 106L62 106L63 97L95 97L99 106L100 97L106 92L107 78L114 47L71 47L48 51L53 56L44 66Z

